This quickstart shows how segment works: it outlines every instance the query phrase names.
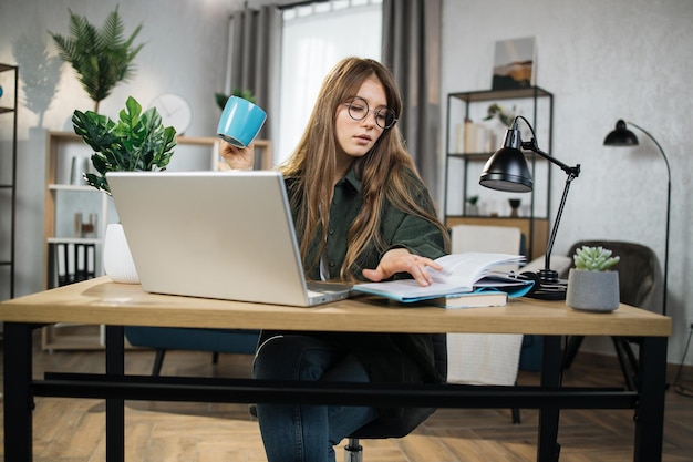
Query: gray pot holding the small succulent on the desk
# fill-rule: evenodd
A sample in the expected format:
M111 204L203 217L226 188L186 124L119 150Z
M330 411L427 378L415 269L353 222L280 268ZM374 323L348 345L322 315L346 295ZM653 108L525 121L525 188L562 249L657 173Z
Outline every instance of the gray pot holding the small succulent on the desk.
M619 307L619 271L571 268L566 305L586 311L613 311Z

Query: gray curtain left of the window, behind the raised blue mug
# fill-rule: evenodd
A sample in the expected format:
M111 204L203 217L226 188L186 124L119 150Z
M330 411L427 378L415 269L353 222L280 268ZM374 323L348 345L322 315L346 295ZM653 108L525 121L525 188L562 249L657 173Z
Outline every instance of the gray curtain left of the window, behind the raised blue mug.
M246 8L231 14L227 63L227 93L234 89L249 90L268 117L258 137L276 140L279 114L279 63L281 53L281 11L267 6L259 10Z

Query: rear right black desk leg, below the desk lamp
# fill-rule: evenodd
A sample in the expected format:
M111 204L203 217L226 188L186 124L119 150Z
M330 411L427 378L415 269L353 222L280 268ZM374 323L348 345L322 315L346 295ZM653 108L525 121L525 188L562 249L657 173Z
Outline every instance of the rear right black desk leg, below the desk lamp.
M544 358L541 361L541 387L560 387L562 358L560 336L544 336ZM558 408L539 410L539 440L537 442L538 462L558 462Z

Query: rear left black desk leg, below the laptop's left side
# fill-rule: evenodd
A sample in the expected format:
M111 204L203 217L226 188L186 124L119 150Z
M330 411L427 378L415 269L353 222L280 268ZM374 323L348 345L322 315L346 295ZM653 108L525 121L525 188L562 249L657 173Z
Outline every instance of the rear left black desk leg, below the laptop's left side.
M125 373L125 337L122 326L106 326L106 374ZM125 401L106 399L106 461L125 462Z

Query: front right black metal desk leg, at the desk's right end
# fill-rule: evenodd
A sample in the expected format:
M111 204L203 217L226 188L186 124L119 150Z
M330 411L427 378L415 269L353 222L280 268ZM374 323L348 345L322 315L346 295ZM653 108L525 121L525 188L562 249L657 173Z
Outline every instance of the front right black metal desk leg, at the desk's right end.
M634 462L661 462L666 391L666 337L645 337L638 371L640 401L635 408Z

